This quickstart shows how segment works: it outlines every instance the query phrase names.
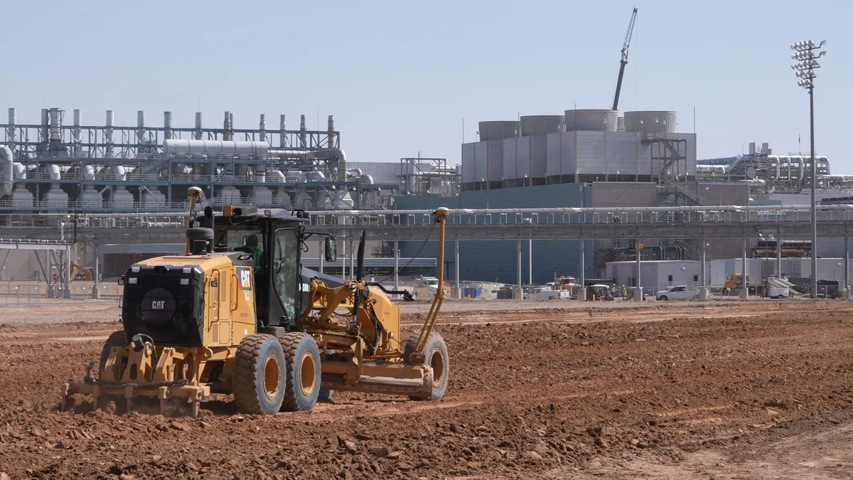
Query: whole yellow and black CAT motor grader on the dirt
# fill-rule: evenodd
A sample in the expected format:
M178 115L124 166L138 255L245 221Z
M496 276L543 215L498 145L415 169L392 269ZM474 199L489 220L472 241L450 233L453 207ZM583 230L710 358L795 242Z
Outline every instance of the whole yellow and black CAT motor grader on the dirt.
M335 239L311 233L301 211L210 208L194 216L192 197L186 255L144 260L123 276L123 330L104 343L96 372L66 383L61 409L74 394L133 408L138 397L189 401L192 415L212 393L234 395L241 413L307 410L332 390L408 395L438 400L449 376L447 347L432 332L444 301L439 289L421 331L401 338L400 309L388 295L405 295L362 278L364 234L356 278L302 267L310 237L324 237L325 260ZM439 208L439 278L444 219ZM204 226L195 226L195 224ZM120 282L122 280L119 280ZM124 399L124 401L121 401Z

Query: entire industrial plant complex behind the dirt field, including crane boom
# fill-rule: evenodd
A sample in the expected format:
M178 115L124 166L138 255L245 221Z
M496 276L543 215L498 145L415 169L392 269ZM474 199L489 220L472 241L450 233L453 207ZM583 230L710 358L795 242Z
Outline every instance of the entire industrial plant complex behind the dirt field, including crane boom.
M324 130L309 130L305 115L298 129L288 130L284 114L270 125L259 114L257 126L241 128L230 112L208 125L201 112L195 112L194 124L180 124L166 111L162 124L154 125L159 120L147 120L142 110L134 123L117 120L113 110L100 122L84 121L80 109L69 114L43 108L38 124L26 124L9 108L8 122L0 125L0 237L49 238L73 247L51 255L35 249L12 259L6 255L0 279L45 280L58 268L51 281L67 283L71 260L84 276L112 278L148 256L180 252L176 239L182 235L181 215L189 210L190 187L200 189L200 206L217 212L225 206L307 212L312 225L342 239L339 265L323 265L319 251L303 259L329 272L353 272L353 239L370 225L376 230L367 238L364 266L380 278L392 275L395 285L401 273L423 277L438 269L436 239L405 233L435 208L455 213L447 220L449 236L455 237L447 245L452 255L444 261L443 280L460 291L467 283L514 285L510 296L517 297L520 290L567 276L582 285L598 278L651 290L663 286L642 284L634 261L647 262L646 268L660 263L659 272L675 265L665 262L692 262L684 264L683 275L661 278L697 287L734 274L733 259L741 271L748 269L747 260L760 260L753 262L763 265L753 278L803 278L822 275L812 274L816 264L804 259L846 257L844 237L815 245L798 232L768 227L765 234L762 225L754 225L745 240L736 228L769 220L799 225L798 208L809 205L813 185L816 202L827 212L853 202L853 175L831 170L827 156L815 155L814 177L810 155L774 151L769 143L749 143L741 155L703 159L701 136L684 132L676 111L665 105L619 110L636 15L634 9L620 50L612 104L554 105L515 119L483 119L476 141L461 144L458 165L421 155L398 161L347 158L332 115ZM479 214L466 214L471 211ZM512 211L517 212L508 214ZM623 231L543 236L524 234L518 226L596 225L603 218ZM727 233L714 242L675 227L629 235L631 218L669 225L713 219ZM489 234L474 235L468 224ZM508 225L515 225L512 235L505 233ZM144 231L128 236L129 228ZM492 231L504 232L493 237ZM772 242L776 246L768 247ZM834 270L826 275L838 277ZM844 282L847 277L845 269Z

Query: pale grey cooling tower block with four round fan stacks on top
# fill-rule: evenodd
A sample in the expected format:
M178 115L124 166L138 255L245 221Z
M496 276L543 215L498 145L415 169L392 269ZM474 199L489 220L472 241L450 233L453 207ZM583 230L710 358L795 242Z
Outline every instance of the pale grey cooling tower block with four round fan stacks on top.
M591 182L677 183L696 175L696 135L677 132L675 112L566 110L479 123L463 143L462 190Z

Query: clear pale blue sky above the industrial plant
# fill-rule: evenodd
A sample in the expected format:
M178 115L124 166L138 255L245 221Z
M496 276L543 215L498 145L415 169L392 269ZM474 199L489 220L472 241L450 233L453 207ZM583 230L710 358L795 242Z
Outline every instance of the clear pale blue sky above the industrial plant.
M748 142L808 150L808 95L789 45L826 38L815 90L819 155L853 173L853 3L835 2L6 2L0 108L84 123L238 127L334 114L351 161L460 158L478 120L609 108L619 50L640 9L620 109L678 112L699 157ZM3 120L4 118L3 113Z

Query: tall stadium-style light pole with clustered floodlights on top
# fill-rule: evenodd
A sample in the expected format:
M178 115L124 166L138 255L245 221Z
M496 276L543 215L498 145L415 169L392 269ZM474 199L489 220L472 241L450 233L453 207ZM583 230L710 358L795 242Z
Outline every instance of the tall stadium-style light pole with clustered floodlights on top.
M798 63L791 66L797 74L798 86L809 91L809 141L811 142L811 298L817 297L817 163L815 162L815 68L820 68L818 58L827 54L826 50L820 50L826 45L826 40L815 44L811 40L798 42L791 45L794 50L791 58Z

